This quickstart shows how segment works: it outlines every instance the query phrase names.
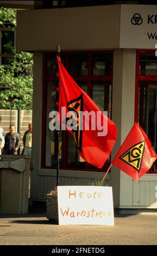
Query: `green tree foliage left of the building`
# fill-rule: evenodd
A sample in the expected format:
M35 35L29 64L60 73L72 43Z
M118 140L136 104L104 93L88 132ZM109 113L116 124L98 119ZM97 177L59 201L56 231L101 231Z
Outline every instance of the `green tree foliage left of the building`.
M16 25L15 9L0 9L0 26L5 22ZM5 49L12 57L9 66L0 65L0 108L31 109L33 94L33 54L16 52L11 42L5 44Z

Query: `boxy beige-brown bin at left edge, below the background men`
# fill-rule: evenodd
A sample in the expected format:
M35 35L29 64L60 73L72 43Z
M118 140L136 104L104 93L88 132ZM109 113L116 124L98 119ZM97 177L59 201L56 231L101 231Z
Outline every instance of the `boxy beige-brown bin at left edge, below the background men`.
M30 156L2 155L0 161L0 214L27 214Z

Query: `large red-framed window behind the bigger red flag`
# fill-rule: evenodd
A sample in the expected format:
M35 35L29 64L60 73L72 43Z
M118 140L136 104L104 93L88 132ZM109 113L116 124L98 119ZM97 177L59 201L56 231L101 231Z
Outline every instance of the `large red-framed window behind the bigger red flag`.
M74 81L83 89L102 111L111 118L112 51L61 52L61 61ZM42 167L56 167L55 135L49 130L49 112L55 109L56 54L45 53L43 81ZM59 163L62 169L95 170L79 155L73 136L67 131L59 132ZM100 171L108 168L110 159Z

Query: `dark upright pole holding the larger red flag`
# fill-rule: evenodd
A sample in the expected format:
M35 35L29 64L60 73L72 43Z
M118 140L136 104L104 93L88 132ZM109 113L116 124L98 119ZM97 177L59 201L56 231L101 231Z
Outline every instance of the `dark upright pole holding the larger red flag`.
M60 45L57 46L57 57L60 57ZM59 111L59 92L57 90L57 87L59 88L59 77L58 77L58 83L56 84L56 97L55 97L55 108L56 111ZM56 137L55 137L55 150L56 150L56 186L59 186L59 131L56 130Z

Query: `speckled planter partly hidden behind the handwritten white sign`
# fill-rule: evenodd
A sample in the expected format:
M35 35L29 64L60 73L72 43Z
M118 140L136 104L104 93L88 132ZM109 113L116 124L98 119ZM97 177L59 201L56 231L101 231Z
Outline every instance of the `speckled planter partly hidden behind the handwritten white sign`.
M46 217L48 220L58 221L58 196L56 194L46 195Z

